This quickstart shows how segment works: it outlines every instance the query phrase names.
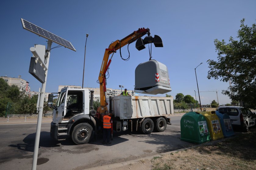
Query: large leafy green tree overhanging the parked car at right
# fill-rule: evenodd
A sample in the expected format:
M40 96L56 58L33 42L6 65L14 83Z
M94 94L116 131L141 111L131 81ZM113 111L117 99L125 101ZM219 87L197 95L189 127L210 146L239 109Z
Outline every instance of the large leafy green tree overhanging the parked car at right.
M256 109L256 24L251 27L244 25L241 20L237 39L232 36L229 43L224 39L214 40L218 61L208 60L208 79L220 79L232 83L222 94L228 95L231 100L242 100L247 107Z

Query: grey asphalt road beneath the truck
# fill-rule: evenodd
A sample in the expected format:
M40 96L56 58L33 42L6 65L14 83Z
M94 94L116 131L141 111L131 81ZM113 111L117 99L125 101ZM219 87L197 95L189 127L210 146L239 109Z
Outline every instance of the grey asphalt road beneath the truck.
M170 118L172 125L167 125L164 132L114 132L109 145L101 144L102 135L84 145L76 145L70 138L54 141L50 138L50 123L43 123L37 169L82 170L194 145L180 141L181 116ZM36 124L1 124L0 128L1 169L31 169Z

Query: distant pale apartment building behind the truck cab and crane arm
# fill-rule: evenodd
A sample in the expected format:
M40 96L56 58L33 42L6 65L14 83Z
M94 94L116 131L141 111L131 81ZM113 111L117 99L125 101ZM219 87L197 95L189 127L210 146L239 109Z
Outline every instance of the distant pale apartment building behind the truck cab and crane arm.
M69 88L75 88L75 89L81 89L82 87L81 86L63 86L63 85L60 85L59 86L59 90L58 92L60 92L60 90L64 87L69 87ZM91 87L84 87L84 89L88 89L89 90L89 98L91 99L91 90L94 90L94 95L93 95L93 100L96 101L96 100L100 100L100 88L91 88ZM122 91L124 91L125 88L122 88ZM127 90L127 92L132 95L132 91L133 90ZM121 89L112 89L112 88L107 88L107 97L111 96L111 97L114 97L114 96L117 96L121 93Z

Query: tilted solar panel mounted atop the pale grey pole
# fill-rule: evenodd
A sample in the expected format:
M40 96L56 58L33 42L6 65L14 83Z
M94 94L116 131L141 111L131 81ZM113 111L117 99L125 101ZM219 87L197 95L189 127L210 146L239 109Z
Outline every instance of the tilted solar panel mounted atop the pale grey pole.
M76 51L76 49L73 47L73 45L66 39L56 36L55 34L49 32L49 31L46 31L45 29L42 29L42 28L38 27L37 25L34 25L31 22L28 22L22 18L21 18L21 22L22 22L24 29L27 29L28 31L33 32L33 33L37 34L38 36L42 36L52 42L55 42L55 43L61 45L61 46L64 46L69 49L72 49L73 51Z

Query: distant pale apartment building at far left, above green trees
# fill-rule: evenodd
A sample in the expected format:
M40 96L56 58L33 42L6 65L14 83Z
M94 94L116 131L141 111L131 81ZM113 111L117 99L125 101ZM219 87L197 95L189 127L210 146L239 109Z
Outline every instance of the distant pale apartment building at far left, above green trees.
M28 96L30 96L30 86L29 82L22 78L12 78L12 77L3 77L0 78L4 79L9 86L15 85L19 87L20 91L24 91Z

